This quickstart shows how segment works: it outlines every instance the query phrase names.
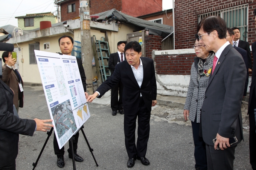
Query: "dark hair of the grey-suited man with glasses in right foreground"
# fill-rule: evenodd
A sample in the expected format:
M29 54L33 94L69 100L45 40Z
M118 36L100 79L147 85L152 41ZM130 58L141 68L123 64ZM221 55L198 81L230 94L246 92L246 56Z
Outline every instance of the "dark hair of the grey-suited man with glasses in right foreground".
M221 17L206 17L198 24L197 32L199 32L201 27L203 28L204 32L208 33L208 35L210 34L210 32L216 30L218 32L219 39L226 38L227 24Z

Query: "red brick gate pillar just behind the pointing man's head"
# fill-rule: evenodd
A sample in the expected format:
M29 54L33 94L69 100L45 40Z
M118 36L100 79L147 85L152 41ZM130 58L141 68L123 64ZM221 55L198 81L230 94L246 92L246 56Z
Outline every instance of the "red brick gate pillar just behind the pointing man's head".
M162 36L158 35L149 35L145 37L145 48L146 56L152 58L152 50L162 50L161 41L163 40Z

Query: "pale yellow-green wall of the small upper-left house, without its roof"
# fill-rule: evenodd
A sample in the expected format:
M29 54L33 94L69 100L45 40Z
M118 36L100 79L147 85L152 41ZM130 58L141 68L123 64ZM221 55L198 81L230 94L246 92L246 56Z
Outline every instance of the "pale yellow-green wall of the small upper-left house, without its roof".
M24 26L24 18L18 18L18 27L20 27L23 30L37 29L40 27L40 21L51 21L52 24L55 24L55 23L57 23L57 17L55 17L55 16L35 17L33 27L25 27Z

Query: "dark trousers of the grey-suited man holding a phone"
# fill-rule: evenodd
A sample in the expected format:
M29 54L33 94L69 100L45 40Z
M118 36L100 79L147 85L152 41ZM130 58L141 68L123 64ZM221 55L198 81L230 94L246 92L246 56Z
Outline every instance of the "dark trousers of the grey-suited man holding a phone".
M206 144L208 170L233 170L236 146L224 150L215 150L214 146Z

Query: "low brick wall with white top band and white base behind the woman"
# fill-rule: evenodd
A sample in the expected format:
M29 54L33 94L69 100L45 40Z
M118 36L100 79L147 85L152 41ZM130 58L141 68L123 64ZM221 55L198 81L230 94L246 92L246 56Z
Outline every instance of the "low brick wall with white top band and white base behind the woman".
M177 56L184 57L177 59ZM189 56L194 58L194 49L152 51L152 59L154 60L156 70L157 94L180 97L187 96L187 88L190 81L190 69L194 62L190 62L191 59L189 59ZM184 60L184 62L179 63L182 60ZM186 60L189 62L186 62ZM173 63L173 65L168 66L170 63ZM184 70L184 68L187 69ZM249 76L247 93L250 90L250 84L251 76Z

